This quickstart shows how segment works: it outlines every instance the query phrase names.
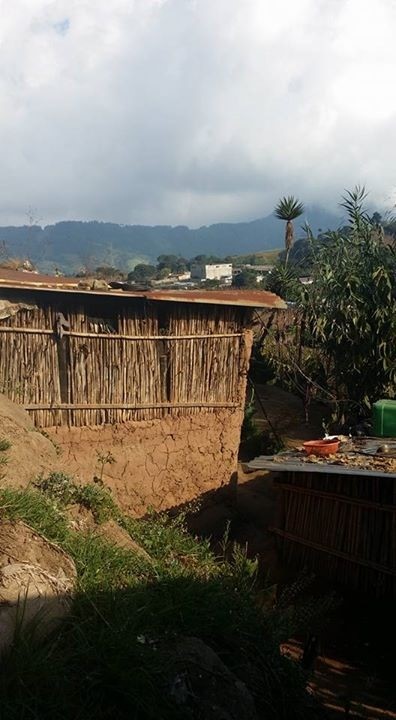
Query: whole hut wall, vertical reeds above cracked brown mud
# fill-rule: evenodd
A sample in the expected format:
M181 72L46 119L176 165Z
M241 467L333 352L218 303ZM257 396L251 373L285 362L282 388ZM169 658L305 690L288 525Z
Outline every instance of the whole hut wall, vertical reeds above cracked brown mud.
M46 428L60 469L84 482L103 470L136 515L230 483L252 342L244 309L88 293L19 300L0 319L0 392Z

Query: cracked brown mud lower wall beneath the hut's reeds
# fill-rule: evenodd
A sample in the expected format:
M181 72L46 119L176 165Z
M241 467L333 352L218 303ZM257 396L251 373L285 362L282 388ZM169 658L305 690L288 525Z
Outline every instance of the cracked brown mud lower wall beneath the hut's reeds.
M166 510L230 483L237 469L243 412L82 428L47 428L60 448L60 468L81 482L100 476L99 455L114 458L103 482L123 509L141 516Z

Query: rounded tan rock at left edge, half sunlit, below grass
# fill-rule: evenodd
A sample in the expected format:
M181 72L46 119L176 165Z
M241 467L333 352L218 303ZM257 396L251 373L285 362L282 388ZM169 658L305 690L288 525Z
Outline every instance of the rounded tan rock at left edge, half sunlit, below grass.
M73 560L23 522L0 525L0 653L21 630L41 638L68 613Z

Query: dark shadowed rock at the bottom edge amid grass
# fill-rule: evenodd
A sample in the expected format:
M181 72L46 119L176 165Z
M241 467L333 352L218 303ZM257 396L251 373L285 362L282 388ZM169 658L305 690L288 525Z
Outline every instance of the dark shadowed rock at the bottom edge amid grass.
M199 638L179 639L171 651L170 664L169 692L188 717L258 720L246 685Z

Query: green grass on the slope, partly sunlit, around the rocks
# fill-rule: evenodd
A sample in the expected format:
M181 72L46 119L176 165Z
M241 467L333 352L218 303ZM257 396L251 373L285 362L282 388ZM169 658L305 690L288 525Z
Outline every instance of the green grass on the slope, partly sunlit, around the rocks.
M201 638L254 695L268 720L310 717L305 678L282 657L285 617L256 603L256 563L235 547L215 557L185 529L183 517L124 516L97 485L76 490L67 476L38 487L0 490L3 518L20 519L74 559L78 584L71 615L56 634L32 642L23 633L0 673L7 720L170 720L198 718L173 702L172 646ZM67 506L79 502L116 520L149 557L72 529ZM288 618L287 618L288 621ZM286 623L287 624L287 623ZM312 715L312 717L314 717Z

